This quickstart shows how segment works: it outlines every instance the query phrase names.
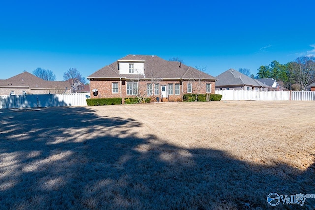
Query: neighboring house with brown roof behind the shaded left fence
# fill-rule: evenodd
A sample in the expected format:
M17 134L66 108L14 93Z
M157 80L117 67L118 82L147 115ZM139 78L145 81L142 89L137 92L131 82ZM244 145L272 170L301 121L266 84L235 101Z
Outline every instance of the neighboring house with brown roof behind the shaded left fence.
M47 81L24 71L6 80L0 80L0 95L70 93L67 81Z

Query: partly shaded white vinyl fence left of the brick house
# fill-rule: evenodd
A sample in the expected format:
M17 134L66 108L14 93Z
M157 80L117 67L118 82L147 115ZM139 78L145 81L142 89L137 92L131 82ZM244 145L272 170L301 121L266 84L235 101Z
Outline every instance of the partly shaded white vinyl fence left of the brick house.
M87 106L86 99L89 97L90 93L1 95L0 109L55 106Z

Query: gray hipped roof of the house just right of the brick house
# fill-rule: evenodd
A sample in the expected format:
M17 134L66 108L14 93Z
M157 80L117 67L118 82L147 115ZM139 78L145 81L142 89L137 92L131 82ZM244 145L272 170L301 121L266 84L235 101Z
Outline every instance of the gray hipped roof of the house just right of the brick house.
M256 79L252 79L235 69L229 69L217 76L216 86L255 86L267 87Z

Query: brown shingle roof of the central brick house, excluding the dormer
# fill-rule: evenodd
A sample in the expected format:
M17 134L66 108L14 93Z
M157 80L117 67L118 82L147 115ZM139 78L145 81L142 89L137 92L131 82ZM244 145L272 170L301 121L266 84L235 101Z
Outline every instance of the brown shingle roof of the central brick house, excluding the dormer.
M127 55L118 60L144 60L144 74L146 78L161 79L189 79L202 78L216 80L213 76L177 61L167 61L158 56ZM90 78L135 78L134 75L119 74L118 62L105 66L88 76ZM138 75L137 75L138 77Z

